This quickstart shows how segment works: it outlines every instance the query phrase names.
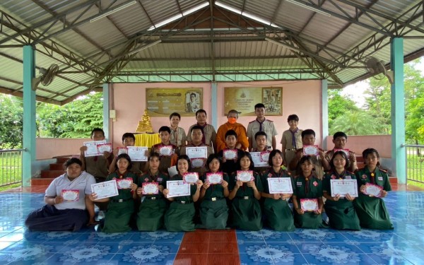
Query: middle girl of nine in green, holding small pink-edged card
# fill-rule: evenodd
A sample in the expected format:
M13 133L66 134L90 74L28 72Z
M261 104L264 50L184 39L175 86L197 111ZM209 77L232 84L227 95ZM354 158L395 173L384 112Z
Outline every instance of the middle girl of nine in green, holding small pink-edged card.
M252 156L249 153L245 152L238 158L237 170L254 170ZM237 172L232 173L230 177L231 192L228 198L232 200L231 226L234 228L251 231L262 229L262 211L259 204L262 182L260 175L255 171L253 177L254 179L249 182L237 180Z

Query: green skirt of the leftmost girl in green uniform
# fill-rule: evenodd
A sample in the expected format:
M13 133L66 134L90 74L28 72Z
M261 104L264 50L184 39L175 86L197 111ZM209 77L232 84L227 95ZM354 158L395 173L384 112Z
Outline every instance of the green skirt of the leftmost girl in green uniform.
M134 213L134 201L130 199L124 202L110 201L105 214L105 224L102 232L128 232L129 220Z

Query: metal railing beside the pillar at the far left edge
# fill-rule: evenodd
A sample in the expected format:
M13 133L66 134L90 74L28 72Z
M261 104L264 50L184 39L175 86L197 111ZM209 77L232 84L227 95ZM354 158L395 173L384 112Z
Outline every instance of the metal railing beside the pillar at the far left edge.
M22 183L24 149L0 150L0 187Z

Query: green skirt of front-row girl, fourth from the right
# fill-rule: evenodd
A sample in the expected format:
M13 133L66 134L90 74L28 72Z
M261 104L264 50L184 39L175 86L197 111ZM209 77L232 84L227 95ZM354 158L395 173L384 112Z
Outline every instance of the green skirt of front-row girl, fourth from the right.
M266 198L264 201L264 214L266 216L266 224L269 225L272 230L295 230L293 213L287 201Z

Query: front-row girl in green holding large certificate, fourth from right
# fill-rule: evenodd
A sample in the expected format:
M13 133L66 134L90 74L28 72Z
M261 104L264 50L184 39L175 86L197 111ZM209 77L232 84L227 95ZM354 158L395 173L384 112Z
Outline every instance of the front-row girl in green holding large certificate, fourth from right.
M293 213L288 206L288 199L292 194L269 194L269 177L290 177L288 172L281 168L283 165L283 154L278 149L271 151L269 154L269 165L271 168L268 172L261 175L261 182L264 191L261 196L264 200L264 215L266 216L266 224L272 230L276 231L293 231L295 225L293 223ZM290 177L293 186L293 179ZM294 187L293 187L294 190Z

